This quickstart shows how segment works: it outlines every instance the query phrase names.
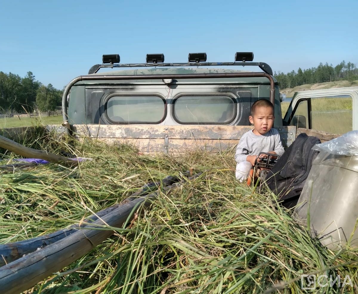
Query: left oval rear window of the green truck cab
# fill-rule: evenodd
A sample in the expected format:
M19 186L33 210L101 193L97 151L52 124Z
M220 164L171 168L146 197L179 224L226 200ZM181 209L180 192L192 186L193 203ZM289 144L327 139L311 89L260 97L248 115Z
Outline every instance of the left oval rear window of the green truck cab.
M158 96L112 96L105 109L113 123L160 123L166 115L165 106Z

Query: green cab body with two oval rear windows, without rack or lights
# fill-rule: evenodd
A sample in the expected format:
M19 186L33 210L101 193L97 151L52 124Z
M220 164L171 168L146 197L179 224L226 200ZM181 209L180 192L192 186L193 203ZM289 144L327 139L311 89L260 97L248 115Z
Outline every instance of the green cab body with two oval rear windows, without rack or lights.
M248 125L251 104L270 98L266 77L216 77L238 70L152 68L93 74L105 80L77 82L71 88L68 117L73 123ZM194 78L208 74L208 78ZM109 80L113 76L160 79ZM190 78L175 78L187 75ZM214 78L210 78L213 75ZM161 78L163 76L163 78ZM173 77L173 78L168 78ZM275 117L280 123L279 88L274 79Z

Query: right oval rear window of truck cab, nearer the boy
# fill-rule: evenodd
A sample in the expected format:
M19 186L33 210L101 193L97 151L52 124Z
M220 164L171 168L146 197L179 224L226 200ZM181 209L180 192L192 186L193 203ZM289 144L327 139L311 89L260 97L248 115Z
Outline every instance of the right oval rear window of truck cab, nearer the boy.
M182 124L226 124L234 120L237 104L229 96L180 96L174 101L173 118Z

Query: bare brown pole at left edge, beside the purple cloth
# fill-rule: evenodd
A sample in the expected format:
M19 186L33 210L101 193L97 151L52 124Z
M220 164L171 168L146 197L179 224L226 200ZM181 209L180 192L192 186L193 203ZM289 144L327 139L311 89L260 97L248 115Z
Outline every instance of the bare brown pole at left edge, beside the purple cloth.
M29 147L25 147L19 143L16 143L8 138L0 136L0 147L10 150L16 154L29 158L40 158L53 163L63 163L64 165L75 166L78 165L78 160L71 160L66 157L55 155L48 151L36 150Z

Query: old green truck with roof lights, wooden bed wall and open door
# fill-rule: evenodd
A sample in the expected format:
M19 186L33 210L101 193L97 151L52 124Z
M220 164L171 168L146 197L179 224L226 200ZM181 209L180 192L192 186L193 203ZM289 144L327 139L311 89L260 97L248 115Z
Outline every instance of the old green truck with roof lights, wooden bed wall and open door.
M275 107L274 127L286 147L300 128L324 134L358 129L353 116L358 106L357 88L298 92L282 116L285 97L272 69L266 63L252 62L252 52L237 52L233 62L206 59L206 53L193 53L187 63L164 63L164 54L147 54L146 63L122 64L118 54L103 55L102 64L94 65L88 75L73 79L65 88L62 108L66 126L77 137L131 143L144 153L177 153L193 147L219 151L236 144L252 128L248 120L252 104L269 99ZM238 67L245 70L233 69ZM313 100L322 98L323 104L332 106L330 98L337 97L350 99L344 106L347 109L337 105L327 111L322 106L315 110ZM329 120L332 113L335 119L348 115L348 127L339 132L314 127L318 126L317 116Z

